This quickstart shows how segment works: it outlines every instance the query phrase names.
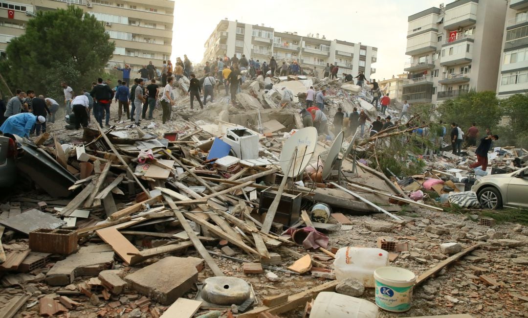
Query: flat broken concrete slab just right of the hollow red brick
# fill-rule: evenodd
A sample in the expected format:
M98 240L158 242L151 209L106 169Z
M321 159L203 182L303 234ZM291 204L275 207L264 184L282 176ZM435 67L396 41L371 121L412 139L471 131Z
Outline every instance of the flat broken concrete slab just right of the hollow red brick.
M46 275L51 286L66 286L77 276L97 276L101 270L110 269L114 251L108 244L81 247L77 254L59 260Z

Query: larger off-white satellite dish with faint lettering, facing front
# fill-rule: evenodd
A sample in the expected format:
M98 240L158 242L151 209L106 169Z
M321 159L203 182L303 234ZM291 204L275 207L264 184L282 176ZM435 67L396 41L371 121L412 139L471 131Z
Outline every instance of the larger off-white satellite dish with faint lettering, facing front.
M316 144L317 129L314 127L306 127L297 130L297 132L284 143L284 146L282 146L279 158L282 173L284 175L287 174L288 177L297 177L299 174L303 173L312 158ZM291 156L294 154L295 147L297 147L297 155L295 156L295 162L292 163L291 169L288 173L288 167L290 166Z

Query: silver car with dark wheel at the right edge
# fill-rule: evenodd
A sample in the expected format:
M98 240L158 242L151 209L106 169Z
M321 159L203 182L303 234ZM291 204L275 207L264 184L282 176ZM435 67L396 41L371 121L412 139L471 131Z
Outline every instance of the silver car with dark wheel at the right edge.
M528 208L528 167L512 173L483 176L471 190L477 193L484 209L500 209L503 205Z

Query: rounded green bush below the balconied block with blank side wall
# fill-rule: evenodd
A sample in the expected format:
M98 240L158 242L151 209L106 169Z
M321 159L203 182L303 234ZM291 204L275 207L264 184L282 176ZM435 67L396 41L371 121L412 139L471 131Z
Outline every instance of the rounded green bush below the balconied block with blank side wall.
M444 101L438 114L447 125L457 123L466 130L472 123L477 123L477 127L484 131L488 127L492 130L497 127L502 111L494 91L469 91Z

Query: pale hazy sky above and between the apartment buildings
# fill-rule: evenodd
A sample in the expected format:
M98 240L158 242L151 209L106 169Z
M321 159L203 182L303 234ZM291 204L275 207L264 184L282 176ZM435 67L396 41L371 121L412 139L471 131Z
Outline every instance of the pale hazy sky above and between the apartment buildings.
M446 1L450 3L452 1ZM313 3L313 5L307 5ZM442 0L243 0L175 1L171 59L202 61L204 43L220 20L264 24L278 32L319 33L378 48L372 78L382 80L403 72L409 15L438 7ZM294 9L294 10L292 10ZM284 14L283 12L286 12Z

